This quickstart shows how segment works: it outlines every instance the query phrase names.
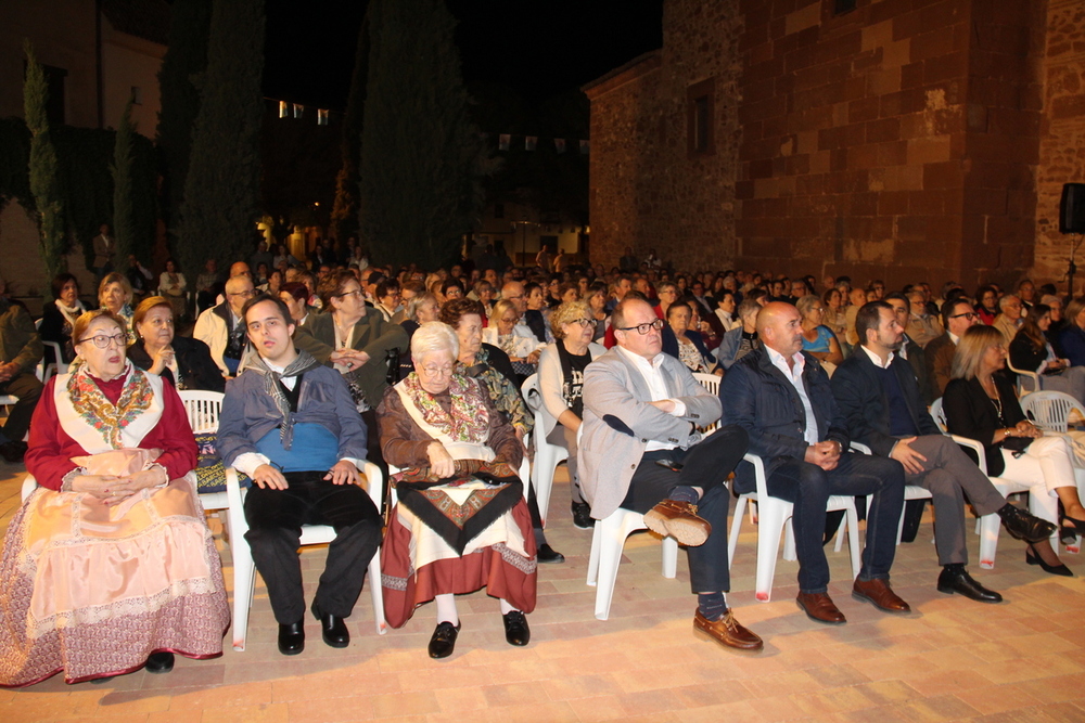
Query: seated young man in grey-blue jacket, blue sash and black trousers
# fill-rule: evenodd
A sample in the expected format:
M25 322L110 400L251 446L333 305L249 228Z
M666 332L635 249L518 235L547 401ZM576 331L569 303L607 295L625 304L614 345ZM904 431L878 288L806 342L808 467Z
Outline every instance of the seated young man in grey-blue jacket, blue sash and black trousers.
M281 300L261 295L243 307L241 326L255 353L227 384L218 452L254 482L245 496L245 539L268 586L283 655L305 647L302 525L335 528L310 609L324 643L344 648L350 644L344 618L381 543L381 515L359 487L366 425L343 376L294 346Z

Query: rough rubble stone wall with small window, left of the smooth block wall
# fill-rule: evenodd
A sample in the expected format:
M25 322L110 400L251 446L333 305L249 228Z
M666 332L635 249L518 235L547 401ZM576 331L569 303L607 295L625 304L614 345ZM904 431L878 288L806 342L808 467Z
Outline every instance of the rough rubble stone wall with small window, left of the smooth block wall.
M663 49L596 81L591 99L591 260L655 248L682 268L732 259L741 33L730 2L671 0ZM711 152L689 152L689 90L712 87Z

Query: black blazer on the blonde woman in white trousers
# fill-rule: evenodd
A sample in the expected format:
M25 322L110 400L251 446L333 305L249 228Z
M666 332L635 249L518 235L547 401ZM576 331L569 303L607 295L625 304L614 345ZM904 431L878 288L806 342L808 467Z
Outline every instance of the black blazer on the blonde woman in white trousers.
M1001 444L994 444L995 431L1006 427L1012 427L1018 422L1026 418L1021 411L1017 395L1013 393L1013 385L995 374L995 389L998 390L998 398L1003 403L1003 416L1005 423L998 421L998 412L994 402L987 398L987 392L978 378L950 379L946 385L946 392L942 396L942 410L946 414L946 426L954 435L974 439L984 447L987 459L987 474L997 477L1006 469L1003 461ZM973 460L975 455L972 450L965 449Z

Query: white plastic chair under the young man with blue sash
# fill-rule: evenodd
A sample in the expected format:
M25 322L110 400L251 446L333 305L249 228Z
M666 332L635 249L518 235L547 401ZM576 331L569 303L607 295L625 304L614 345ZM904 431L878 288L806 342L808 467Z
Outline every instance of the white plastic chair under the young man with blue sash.
M230 500L230 544L233 551L233 649L244 650L248 636L248 608L252 607L253 592L256 585L256 565L253 561L252 548L245 540L248 522L245 520L244 495L238 485L238 475L228 469L226 493ZM366 475L370 499L376 508L381 508L381 491L384 488L384 477L381 468L372 462L367 462L362 473ZM301 546L328 544L335 539L335 530L330 525L303 525ZM376 551L369 563L369 592L373 598L373 617L376 632L383 635L387 632L384 620L384 597L381 593L381 552Z

